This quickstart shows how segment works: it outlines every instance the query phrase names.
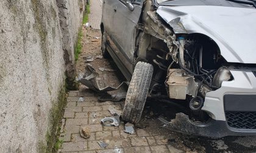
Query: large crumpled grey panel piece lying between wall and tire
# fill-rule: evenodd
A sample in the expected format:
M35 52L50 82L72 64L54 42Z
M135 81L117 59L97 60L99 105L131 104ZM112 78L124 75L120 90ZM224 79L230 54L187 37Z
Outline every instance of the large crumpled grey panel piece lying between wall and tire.
M87 64L85 66L84 76L77 78L77 81L96 92L118 90L121 86L123 86L123 84L128 84L127 82L123 82L118 87L105 86L105 83L102 82L102 78L99 77L99 73L97 73L90 64Z

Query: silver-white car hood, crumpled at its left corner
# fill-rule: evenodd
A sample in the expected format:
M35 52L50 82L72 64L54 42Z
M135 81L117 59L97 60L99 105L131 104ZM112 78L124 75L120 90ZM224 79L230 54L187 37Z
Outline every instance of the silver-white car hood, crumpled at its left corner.
M256 63L256 9L221 6L159 6L175 33L202 33L230 63Z

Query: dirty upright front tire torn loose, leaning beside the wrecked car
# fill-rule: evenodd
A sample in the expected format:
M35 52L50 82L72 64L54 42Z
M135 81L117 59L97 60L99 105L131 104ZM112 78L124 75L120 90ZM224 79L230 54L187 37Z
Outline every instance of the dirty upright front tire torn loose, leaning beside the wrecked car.
M153 66L149 63L138 62L135 66L132 80L126 95L122 118L124 121L136 124L140 121L149 85L153 75Z

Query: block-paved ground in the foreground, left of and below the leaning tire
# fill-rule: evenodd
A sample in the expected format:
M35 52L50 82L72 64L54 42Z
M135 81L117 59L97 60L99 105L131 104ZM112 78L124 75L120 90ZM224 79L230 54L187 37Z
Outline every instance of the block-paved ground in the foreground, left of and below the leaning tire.
M98 94L87 89L80 92L70 91L68 94L60 134L60 140L64 143L59 152L180 152L168 144L165 135L157 135L156 132L144 129L135 129L135 134L132 135L126 134L124 123L118 127L103 126L101 119L111 116L108 107L113 106L121 110L123 102L99 102L96 97ZM79 97L84 97L84 102L77 102ZM91 137L80 137L80 127L89 127ZM102 149L98 141L105 141L108 146Z

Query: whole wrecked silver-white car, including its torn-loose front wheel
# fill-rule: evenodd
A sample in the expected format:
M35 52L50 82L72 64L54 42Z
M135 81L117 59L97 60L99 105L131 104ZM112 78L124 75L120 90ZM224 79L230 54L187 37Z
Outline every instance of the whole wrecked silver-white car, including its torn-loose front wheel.
M130 81L122 118L147 97L176 107L169 127L256 135L256 2L104 0L102 54Z

